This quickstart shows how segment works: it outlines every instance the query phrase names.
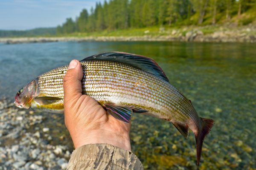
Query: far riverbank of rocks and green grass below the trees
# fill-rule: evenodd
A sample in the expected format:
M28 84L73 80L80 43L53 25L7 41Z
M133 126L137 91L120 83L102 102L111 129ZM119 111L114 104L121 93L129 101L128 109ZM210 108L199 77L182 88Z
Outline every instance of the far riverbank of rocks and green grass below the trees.
M256 42L256 26L140 28L101 33L76 33L59 37L0 38L1 43L36 43L58 41L189 41L189 42Z

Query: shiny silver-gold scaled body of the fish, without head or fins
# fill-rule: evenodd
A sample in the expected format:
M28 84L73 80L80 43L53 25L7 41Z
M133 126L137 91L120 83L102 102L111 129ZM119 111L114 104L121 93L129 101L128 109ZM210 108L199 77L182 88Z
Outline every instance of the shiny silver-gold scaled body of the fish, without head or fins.
M189 101L168 82L118 62L88 61L81 65L83 94L100 104L125 104L143 108L158 118L189 120ZM62 84L67 68L67 65L56 68L38 77L41 96L64 97Z

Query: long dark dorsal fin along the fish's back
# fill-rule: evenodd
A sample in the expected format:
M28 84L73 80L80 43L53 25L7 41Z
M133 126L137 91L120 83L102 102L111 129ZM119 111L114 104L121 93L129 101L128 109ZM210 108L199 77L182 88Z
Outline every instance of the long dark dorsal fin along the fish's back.
M162 68L160 68L157 62L155 62L153 59L149 57L114 51L114 52L96 54L81 60L81 62L92 61L92 60L113 61L113 62L120 62L126 65L131 65L137 69L153 74L165 80L166 82L169 82Z

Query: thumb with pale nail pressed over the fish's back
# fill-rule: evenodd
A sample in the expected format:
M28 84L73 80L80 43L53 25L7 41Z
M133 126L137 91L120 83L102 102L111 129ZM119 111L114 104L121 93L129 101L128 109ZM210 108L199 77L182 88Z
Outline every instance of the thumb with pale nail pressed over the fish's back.
M70 105L71 102L76 103L82 95L81 79L83 78L83 69L80 62L73 59L67 69L67 73L63 79L64 89L64 107ZM69 101L70 103L67 103Z

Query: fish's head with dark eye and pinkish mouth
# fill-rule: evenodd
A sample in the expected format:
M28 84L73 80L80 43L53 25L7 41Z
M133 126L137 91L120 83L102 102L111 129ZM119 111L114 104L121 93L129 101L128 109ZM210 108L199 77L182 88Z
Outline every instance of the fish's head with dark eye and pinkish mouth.
M23 88L21 88L15 96L15 105L18 108L29 109L31 107L32 99L37 96L38 91L38 81L33 79Z

